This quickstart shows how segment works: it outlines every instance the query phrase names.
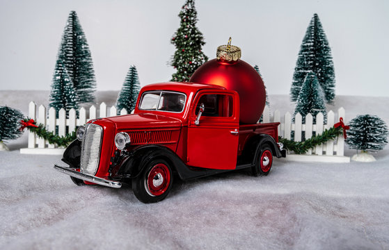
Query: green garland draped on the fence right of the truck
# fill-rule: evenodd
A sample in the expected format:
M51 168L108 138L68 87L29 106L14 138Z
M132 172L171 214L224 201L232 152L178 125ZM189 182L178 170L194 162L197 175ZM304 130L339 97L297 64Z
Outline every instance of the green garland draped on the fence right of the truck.
M303 142L294 142L292 140L281 138L280 136L278 137L278 141L284 144L284 149L294 151L296 154L303 154L319 144L334 140L339 135L342 135L342 133L342 127L338 126L338 128L332 127L330 129L326 129L323 133L321 133L321 135L312 136L312 138Z

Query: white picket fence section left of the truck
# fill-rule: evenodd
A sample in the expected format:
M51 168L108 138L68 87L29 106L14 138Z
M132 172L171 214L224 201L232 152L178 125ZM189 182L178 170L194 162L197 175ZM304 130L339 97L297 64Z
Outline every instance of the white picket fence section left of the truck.
M58 126L59 136L65 136L66 131L74 131L77 126L84 125L91 119L96 119L97 117L111 117L117 115L116 107L112 106L111 108L107 108L104 102L100 104L98 112L97 108L94 105L90 106L88 110L86 110L86 108L80 108L78 118L77 112L76 110L74 110L74 108L69 110L68 118L66 117L66 112L63 108L59 110L58 118L56 118L56 110L54 108L49 108L48 115L46 111L46 107L40 105L38 108L37 115L37 106L35 102L31 101L29 103L29 118L33 119L38 124L45 125L47 130L53 133L56 133L56 127ZM127 110L125 110L125 108L120 110L120 115L127 115ZM65 149L63 148L56 147L56 145L54 144L49 144L47 140L38 138L35 133L31 133L29 131L28 147L26 149L20 149L20 153L62 154L64 150Z

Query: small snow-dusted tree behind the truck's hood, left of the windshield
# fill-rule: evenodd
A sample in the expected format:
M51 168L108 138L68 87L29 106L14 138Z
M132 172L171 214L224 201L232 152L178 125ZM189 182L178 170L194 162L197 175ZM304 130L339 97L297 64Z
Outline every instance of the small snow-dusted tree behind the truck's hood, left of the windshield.
M118 101L116 102L118 115L122 108L125 108L128 113L134 110L139 90L141 90L141 84L139 83L138 72L135 66L131 66L123 83L122 90L120 90Z

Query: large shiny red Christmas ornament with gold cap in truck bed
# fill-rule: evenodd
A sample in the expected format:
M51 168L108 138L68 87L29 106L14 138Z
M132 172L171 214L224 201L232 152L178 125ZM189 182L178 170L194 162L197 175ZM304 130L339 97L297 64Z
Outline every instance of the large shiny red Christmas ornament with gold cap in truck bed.
M209 60L193 73L189 81L220 85L228 90L239 93L240 123L256 123L264 110L266 93L260 74L255 69L240 60L239 47L230 45L219 46L216 59Z

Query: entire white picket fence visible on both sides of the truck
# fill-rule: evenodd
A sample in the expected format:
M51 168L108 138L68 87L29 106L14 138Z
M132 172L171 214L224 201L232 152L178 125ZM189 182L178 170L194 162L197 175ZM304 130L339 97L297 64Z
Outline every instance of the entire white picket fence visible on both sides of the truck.
M109 113L107 112L109 110ZM98 113L98 115L97 115ZM56 133L56 127L58 126L58 135L65 136L66 131L74 131L76 126L86 124L90 119L96 119L97 117L116 116L117 110L115 106L107 108L103 102L99 106L99 111L95 106L91 106L87 112L85 108L79 109L79 117L77 118L77 112L74 109L69 111L68 118L64 109L59 110L58 118L56 118L56 110L54 108L47 110L45 106L37 106L31 101L29 103L29 117L34 119L38 124L44 124L48 131ZM120 115L126 115L127 110L124 108L120 110ZM280 115L280 111L276 110L273 114L269 112L269 108L265 107L263 112L263 122L280 122L278 126L278 135L283 138L291 139L292 131L294 131L294 141L301 141L302 132L305 132L305 138L311 138L312 133L322 133L325 129L331 128L335 122L339 121L340 117L344 118L345 110L340 108L338 115L335 119L335 113L329 111L327 115L327 124L324 124L324 116L319 113L316 116L316 124L313 124L312 115L308 114L305 117L305 124L302 123L302 117L297 114L294 123L292 123L291 113L285 113L283 117ZM41 153L41 154L61 154L65 149L56 148L54 144L49 144L46 140L38 138L35 133L29 132L28 148L20 149L20 153ZM350 158L344 156L344 138L340 135L336 140L327 142L326 144L319 145L315 149L309 150L305 155L288 154L287 160L299 160L299 161L320 161L320 162L349 162Z

